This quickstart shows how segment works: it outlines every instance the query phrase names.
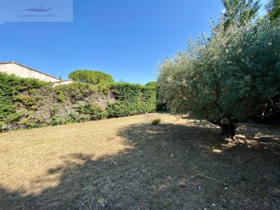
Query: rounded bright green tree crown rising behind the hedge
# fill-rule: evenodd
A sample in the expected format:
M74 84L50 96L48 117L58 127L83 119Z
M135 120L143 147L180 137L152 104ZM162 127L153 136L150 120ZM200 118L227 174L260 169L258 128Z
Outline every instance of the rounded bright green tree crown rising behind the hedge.
M76 82L90 83L92 85L113 82L112 76L102 71L76 70L69 73L69 78Z

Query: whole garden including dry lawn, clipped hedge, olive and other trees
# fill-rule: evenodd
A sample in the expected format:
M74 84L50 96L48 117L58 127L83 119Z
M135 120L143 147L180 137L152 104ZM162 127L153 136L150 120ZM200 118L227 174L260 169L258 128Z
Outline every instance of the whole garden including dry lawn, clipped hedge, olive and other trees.
M223 6L146 85L0 73L0 209L280 209L280 1Z

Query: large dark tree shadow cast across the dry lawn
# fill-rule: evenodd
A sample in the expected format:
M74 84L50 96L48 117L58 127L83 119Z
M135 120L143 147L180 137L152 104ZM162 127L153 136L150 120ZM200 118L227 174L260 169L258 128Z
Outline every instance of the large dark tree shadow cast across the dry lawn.
M26 195L0 186L0 209L279 209L279 141L258 131L228 142L218 132L130 125L118 136L132 148L99 159L62 155L64 164L48 170L59 174L56 187Z

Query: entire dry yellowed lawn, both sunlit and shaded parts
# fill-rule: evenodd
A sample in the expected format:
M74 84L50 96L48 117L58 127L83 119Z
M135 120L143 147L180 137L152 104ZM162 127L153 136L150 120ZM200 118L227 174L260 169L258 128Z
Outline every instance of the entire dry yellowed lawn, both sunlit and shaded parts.
M280 209L279 127L153 115L0 134L0 209Z

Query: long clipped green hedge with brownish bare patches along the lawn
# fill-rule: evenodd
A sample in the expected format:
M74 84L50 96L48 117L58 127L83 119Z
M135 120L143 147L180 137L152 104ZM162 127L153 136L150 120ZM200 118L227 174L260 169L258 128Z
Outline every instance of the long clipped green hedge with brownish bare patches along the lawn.
M155 87L129 83L52 87L0 73L0 131L63 125L155 111Z

